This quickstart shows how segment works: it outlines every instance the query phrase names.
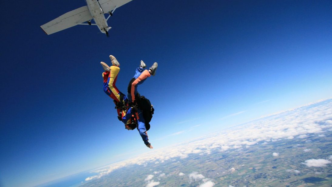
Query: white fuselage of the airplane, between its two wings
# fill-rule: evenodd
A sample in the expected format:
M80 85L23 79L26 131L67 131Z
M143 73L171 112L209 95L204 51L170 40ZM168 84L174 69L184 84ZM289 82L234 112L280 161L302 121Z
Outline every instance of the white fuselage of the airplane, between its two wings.
M99 2L97 0L86 0L86 4L100 32L106 33L110 28L108 27L103 9Z

